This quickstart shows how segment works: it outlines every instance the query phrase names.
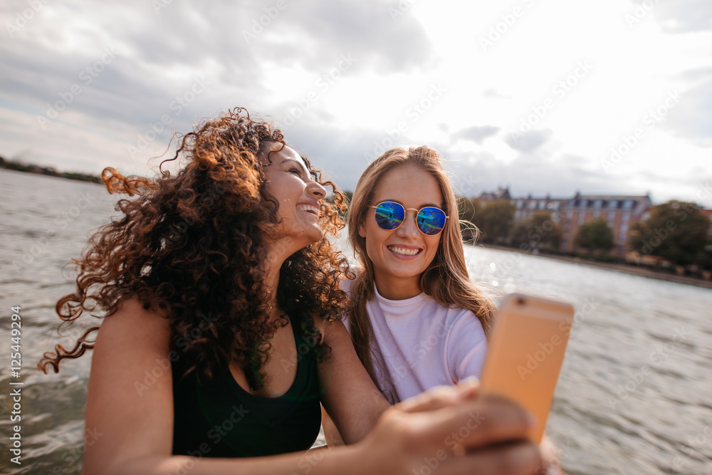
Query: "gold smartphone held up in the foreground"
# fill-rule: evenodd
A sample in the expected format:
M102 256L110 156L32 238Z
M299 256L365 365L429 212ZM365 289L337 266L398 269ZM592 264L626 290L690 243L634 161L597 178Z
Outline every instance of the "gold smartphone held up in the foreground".
M494 320L481 393L507 397L538 420L541 442L574 318L570 303L511 293Z

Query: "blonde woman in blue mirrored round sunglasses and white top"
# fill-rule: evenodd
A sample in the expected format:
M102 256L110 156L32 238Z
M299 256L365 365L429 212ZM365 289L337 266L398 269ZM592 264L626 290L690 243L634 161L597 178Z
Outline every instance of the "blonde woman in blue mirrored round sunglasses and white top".
M356 186L347 216L360 268L342 279L357 355L392 404L480 377L493 301L468 276L459 212L439 154L394 148ZM325 418L330 444L339 436ZM553 459L552 447L548 459Z

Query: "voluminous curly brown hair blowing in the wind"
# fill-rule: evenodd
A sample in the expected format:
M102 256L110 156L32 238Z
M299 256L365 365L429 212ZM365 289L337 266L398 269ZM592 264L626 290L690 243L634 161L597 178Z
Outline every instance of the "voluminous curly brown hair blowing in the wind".
M204 121L177 141L174 157L161 163L154 179L104 169L108 191L133 198L117 202L122 214L98 229L82 259L73 260L77 288L57 303L60 328L85 312L112 315L123 298L135 295L145 309L167 315L171 350L180 350L184 374L195 370L200 380L211 380L235 362L258 390L271 335L278 324L286 325L285 316L272 323L268 318L271 298L263 280L269 242L279 237L278 203L266 192L258 156L270 142L286 142L280 130L252 120L241 108ZM163 170L179 158L187 160L179 172ZM344 226L339 215L346 197L303 160L334 196L321 206L323 238L283 263L276 302L325 357L329 349L320 343L310 314L332 321L345 310L339 278L347 261L327 236ZM89 337L98 328L86 330L71 350L56 345L38 367L58 372L61 360L93 348Z

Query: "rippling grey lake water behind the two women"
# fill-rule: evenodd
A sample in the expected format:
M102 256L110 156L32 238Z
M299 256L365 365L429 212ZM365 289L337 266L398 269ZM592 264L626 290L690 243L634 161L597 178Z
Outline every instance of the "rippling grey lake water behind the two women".
M78 474L90 355L36 370L59 338L64 266L114 214L98 184L0 170L0 473ZM712 474L712 290L512 251L468 246L476 281L577 308L548 421L567 474ZM12 377L11 306L22 369ZM12 400L23 382L22 464L11 463Z

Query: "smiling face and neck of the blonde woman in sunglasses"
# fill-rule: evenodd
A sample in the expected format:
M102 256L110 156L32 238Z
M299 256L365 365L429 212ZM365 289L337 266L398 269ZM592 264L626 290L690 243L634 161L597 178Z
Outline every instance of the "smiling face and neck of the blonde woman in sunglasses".
M397 229L382 229L376 223L375 209L369 209L359 226L366 240L366 252L373 263L376 287L385 298L398 300L420 293L420 274L430 265L440 244L441 234L426 236L416 225L415 215L422 207L442 207L438 183L428 172L413 165L399 165L384 173L369 203L397 202L405 208L405 220Z

